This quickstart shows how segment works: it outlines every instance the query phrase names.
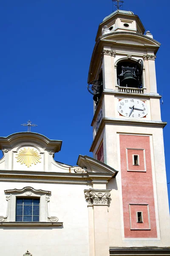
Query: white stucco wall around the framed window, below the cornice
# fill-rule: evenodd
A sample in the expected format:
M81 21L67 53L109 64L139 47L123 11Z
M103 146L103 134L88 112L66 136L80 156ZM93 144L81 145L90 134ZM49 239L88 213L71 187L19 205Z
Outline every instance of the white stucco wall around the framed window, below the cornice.
M22 256L28 250L33 256L88 256L88 207L85 185L48 183L0 183L0 215L6 215L4 190L34 189L51 191L49 214L57 216L59 227L0 227L0 255Z

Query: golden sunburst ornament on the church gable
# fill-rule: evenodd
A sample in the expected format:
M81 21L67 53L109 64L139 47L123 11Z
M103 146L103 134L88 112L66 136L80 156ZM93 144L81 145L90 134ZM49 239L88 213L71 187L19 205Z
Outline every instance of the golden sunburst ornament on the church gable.
M34 148L24 148L19 151L19 154L17 155L17 162L21 164L25 164L27 167L30 167L31 164L34 163L41 163L40 161L40 155L38 154L37 150L34 150Z

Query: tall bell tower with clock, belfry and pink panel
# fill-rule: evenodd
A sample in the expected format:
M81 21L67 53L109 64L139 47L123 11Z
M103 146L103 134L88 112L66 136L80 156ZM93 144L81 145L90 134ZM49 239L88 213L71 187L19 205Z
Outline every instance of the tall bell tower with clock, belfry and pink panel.
M155 59L160 43L137 15L116 10L99 24L88 74L96 160L118 170L108 188L113 246L168 246L169 206ZM113 221L114 222L114 221ZM132 241L133 240L133 241Z

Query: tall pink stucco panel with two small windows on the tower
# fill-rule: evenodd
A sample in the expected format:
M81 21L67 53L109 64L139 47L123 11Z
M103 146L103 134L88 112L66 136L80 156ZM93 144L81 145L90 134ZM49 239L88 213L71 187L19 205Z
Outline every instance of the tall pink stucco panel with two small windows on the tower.
M131 148L131 150L127 150L127 148ZM136 149L145 150L145 171L143 154L144 151L138 151ZM137 153L139 153L139 166L133 166L132 154ZM121 134L120 158L125 237L156 238L156 216L153 195L153 177L149 136ZM131 171L127 171L127 167ZM147 205L149 207L147 207ZM143 212L143 223L136 222L137 211Z

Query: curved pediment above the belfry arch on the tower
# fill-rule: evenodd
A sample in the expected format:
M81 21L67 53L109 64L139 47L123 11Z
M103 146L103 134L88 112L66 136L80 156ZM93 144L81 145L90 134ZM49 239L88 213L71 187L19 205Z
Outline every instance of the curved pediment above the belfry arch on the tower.
M113 32L106 35L102 35L100 37L100 41L103 40L114 41L116 43L150 45L156 47L159 47L161 45L158 41L154 40L153 38L149 38L146 35L130 32Z

